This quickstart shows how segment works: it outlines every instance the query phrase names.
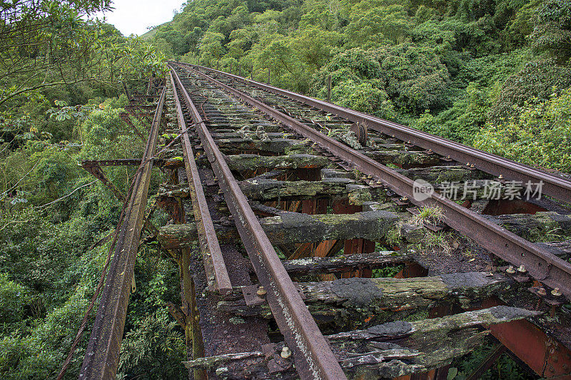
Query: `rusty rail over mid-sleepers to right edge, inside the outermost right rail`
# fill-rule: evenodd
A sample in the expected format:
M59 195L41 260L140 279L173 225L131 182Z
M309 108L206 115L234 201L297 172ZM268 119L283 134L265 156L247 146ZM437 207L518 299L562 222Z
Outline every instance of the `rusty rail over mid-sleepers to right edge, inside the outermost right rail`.
M397 194L408 197L410 202L418 206L438 205L445 211L445 222L454 230L463 233L465 236L475 240L480 246L489 250L497 257L502 258L514 265L524 265L527 271L540 282L550 287L558 287L568 299L571 299L571 264L559 257L552 255L547 250L519 237L505 228L486 220L481 215L458 205L453 200L433 192L425 200L415 200L414 181L410 178L395 172L385 165L368 158L358 151L349 148L347 145L330 138L318 130L315 130L295 118L291 118L275 108L252 98L242 91L236 90L214 78L186 67L186 70L196 73L216 86L225 89L228 93L258 108L263 113L280 121L284 125L295 130L295 132L310 138L318 145L322 146L338 158L358 168L362 173L371 175L375 180L383 182L390 190Z

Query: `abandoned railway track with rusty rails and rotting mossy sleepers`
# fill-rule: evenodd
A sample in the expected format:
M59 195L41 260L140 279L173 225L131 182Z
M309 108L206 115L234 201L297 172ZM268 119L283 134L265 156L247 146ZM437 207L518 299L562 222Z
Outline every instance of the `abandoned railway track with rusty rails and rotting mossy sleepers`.
M181 267L182 307L171 313L195 378L442 379L487 332L540 376L571 376L569 180L221 71L169 66L143 158L86 165L147 173L157 161L170 173L156 199L173 222L156 239ZM418 198L420 179L436 191ZM453 180L465 191L472 181L474 199L445 196ZM506 195L510 180L544 181L551 198L485 198L490 187ZM134 183L146 200L148 178ZM106 283L125 307L145 203L128 199L133 236L118 235ZM115 374L125 319L115 299L101 299L83 379ZM542 337L540 359L514 328Z

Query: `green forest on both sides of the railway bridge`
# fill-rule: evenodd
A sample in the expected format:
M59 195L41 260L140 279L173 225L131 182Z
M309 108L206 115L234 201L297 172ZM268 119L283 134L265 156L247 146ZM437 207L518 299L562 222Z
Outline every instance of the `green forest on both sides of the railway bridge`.
M93 17L108 0L0 2L3 379L55 379L66 359L122 206L79 162L141 156L123 85L144 91L167 59L258 81L269 69L273 85L322 99L330 76L334 103L571 172L568 0L195 0L141 37ZM106 173L126 190L134 169ZM183 378L184 333L166 307L180 302L178 267L151 243L135 273L118 374ZM484 378L526 377L502 359Z

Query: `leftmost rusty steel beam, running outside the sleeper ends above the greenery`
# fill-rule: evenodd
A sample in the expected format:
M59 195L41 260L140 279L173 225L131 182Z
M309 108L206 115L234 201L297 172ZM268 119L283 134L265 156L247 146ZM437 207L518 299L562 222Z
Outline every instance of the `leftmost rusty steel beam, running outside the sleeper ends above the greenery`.
M91 329L79 379L114 379L116 377L138 242L143 228L148 187L151 184L153 153L156 149L165 96L166 88L163 88L145 152L133 179L123 221L117 230L115 252L99 301L94 327Z

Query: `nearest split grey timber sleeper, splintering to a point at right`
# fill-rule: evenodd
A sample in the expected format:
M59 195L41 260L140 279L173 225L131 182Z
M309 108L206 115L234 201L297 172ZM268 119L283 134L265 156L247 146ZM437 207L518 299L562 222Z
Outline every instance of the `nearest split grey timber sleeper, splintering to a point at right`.
M487 332L480 324L501 324L540 314L497 306L415 322L390 322L368 329L326 337L348 379L391 379L450 364L456 356L479 346ZM188 368L203 368L224 379L295 379L290 359L284 359L283 342L266 344L260 351L211 356L188 361ZM228 372L228 364L241 363L242 371ZM236 368L236 366L233 366Z

